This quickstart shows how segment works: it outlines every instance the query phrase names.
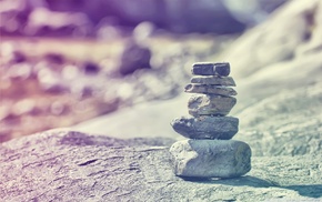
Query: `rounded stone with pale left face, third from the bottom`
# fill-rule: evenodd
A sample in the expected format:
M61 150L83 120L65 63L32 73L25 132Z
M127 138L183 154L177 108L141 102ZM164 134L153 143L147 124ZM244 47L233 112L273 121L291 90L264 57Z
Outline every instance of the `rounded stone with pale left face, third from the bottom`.
M189 114L199 115L227 115L237 103L233 97L215 94L194 94L188 101Z

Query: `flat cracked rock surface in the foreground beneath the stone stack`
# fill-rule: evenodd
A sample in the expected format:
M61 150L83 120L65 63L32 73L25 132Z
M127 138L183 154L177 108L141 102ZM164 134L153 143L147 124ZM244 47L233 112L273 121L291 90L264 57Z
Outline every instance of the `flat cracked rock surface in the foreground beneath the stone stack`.
M189 181L171 139L120 140L49 131L0 145L1 201L319 201L322 154L253 156L237 179Z

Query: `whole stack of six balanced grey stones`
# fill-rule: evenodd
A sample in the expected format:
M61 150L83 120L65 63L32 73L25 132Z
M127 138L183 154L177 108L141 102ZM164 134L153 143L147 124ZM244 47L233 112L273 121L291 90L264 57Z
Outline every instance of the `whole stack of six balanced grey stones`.
M251 149L230 140L238 133L239 119L225 117L237 103L229 63L195 63L185 92L197 93L188 102L192 118L171 122L188 138L170 148L174 173L187 178L235 178L251 170Z

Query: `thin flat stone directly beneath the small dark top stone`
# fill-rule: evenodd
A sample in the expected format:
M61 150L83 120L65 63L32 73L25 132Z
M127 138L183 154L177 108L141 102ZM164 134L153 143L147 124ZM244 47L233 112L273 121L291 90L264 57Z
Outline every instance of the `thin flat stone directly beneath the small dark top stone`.
M191 78L191 83L199 84L218 84L224 87L235 87L235 82L231 77L218 77L218 75L195 75Z

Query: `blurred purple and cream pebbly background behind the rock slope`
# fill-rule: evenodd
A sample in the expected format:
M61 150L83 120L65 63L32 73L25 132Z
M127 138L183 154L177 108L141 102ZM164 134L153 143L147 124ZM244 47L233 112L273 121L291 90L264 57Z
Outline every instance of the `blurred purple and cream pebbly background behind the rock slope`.
M0 142L182 92L286 0L0 0Z

